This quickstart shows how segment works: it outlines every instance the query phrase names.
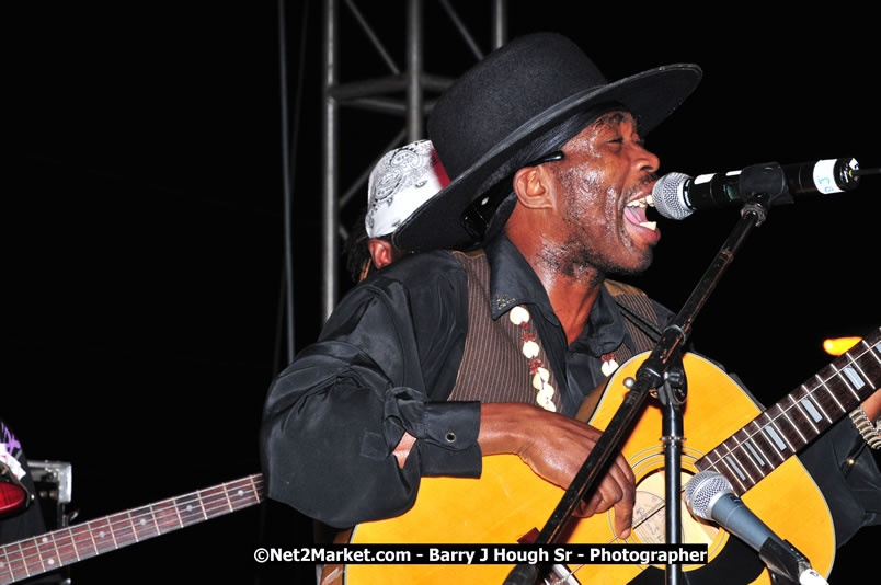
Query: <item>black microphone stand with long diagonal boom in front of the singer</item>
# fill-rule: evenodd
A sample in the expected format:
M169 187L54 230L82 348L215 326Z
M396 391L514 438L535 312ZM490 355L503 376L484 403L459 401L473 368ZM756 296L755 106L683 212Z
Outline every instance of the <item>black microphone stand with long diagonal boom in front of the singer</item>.
M752 197L741 209L741 219L734 226L722 249L703 273L691 295L683 305L682 310L664 329L661 339L652 349L649 357L639 367L636 379L627 385L630 391L625 395L623 402L616 411L606 429L600 435L591 455L585 459L581 470L575 474L569 489L563 494L557 507L551 513L545 527L535 540L536 544L556 542L564 531L572 513L586 495L593 493L620 446L630 434L630 427L637 418L643 402L653 389L664 390L671 386L667 380L679 375L671 368L674 359L680 355L682 348L691 332L691 325L700 309L706 305L722 275L731 265L734 255L740 250L753 228L760 226L768 215L770 205L789 195L786 180L779 165L754 165L744 169L741 176L741 194L752 194ZM783 199L786 200L786 199ZM791 200L791 197L789 197ZM779 202L778 202L779 203ZM682 371L682 388L685 387L684 371ZM676 394L676 392L671 392ZM679 477L682 455L682 395L665 398L664 415L664 449L665 457L665 492L666 492L666 537L668 543L678 543L682 534L682 518L679 515ZM673 491L675 489L675 491ZM515 566L504 585L533 585L539 576L540 565L518 564ZM665 572L666 583L677 585L682 582L682 569L678 565L667 565Z

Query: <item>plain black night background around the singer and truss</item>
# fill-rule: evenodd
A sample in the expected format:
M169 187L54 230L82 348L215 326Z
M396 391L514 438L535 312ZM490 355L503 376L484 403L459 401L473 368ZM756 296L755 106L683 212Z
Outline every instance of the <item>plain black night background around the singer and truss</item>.
M489 5L453 4L488 49ZM404 2L358 5L403 67ZM305 27L302 8L287 3L298 348L320 328L321 279L321 3L309 4ZM649 136L662 172L838 157L881 164L868 18L614 8L512 2L510 36L563 32L609 79L699 64L700 88ZM285 354L276 3L28 2L4 21L2 416L31 459L72 462L78 520L259 471L261 408ZM431 0L425 28L428 71L456 76L474 62ZM346 10L340 37L342 80L388 74ZM402 124L344 112L343 187ZM698 347L766 403L831 359L824 337L881 322L881 182L870 179L775 209L696 322ZM728 210L662 221L656 263L633 282L677 310L735 221ZM302 567L258 571L252 553L258 542L306 542L306 527L281 505L254 507L71 574L80 584L297 582ZM834 582L867 566L869 534L839 551Z

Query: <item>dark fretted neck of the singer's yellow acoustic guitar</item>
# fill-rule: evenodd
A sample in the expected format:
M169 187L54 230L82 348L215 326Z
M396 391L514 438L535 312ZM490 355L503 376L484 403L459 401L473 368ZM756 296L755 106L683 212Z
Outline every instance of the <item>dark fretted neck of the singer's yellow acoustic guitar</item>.
M881 328L696 463L743 495L881 387Z

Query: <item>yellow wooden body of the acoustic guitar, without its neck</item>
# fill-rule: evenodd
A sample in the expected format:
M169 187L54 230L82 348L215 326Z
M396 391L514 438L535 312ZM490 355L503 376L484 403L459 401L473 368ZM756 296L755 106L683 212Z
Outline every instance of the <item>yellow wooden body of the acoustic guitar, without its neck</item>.
M632 377L648 354L636 356L609 379L591 424L604 428L621 403ZM683 471L697 472L694 463L734 434L762 411L728 375L706 359L684 358L688 401L683 413L685 447ZM664 457L661 410L651 400L625 444L622 452L637 475L637 507L631 543L660 543L664 538ZM683 484L687 481L683 477ZM407 514L354 529L353 543L514 543L533 528L541 529L559 503L563 490L535 475L516 456L483 458L480 479L424 478L416 503ZM828 507L816 484L797 458L790 458L743 495L746 505L776 534L792 542L821 574L828 575L835 554L835 535ZM755 569L757 555L748 552L732 559L731 551L744 546L710 523L693 517L683 504L685 542L707 543L710 563L686 566L689 581L718 585L732 582L732 567L754 566L737 583L770 583L767 572ZM613 531L613 512L570 523L567 542L620 542ZM513 565L371 565L353 564L344 570L351 585L487 584L502 583ZM576 569L571 566L570 569ZM575 573L581 583L627 583L645 566L625 564L586 565ZM663 583L663 567L656 573ZM694 572L696 571L696 572ZM760 574L758 572L760 571ZM695 578L699 577L699 578Z

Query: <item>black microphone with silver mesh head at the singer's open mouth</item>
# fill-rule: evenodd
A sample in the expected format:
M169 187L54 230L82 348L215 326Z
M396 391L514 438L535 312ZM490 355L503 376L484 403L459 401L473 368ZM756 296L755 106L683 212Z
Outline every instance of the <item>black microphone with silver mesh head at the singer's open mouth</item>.
M657 180L652 198L668 219L685 219L697 209L726 207L765 193L771 204L792 203L793 195L842 193L856 188L861 174L856 159L825 159L780 165L766 162L729 173L702 174L695 179L668 173Z

